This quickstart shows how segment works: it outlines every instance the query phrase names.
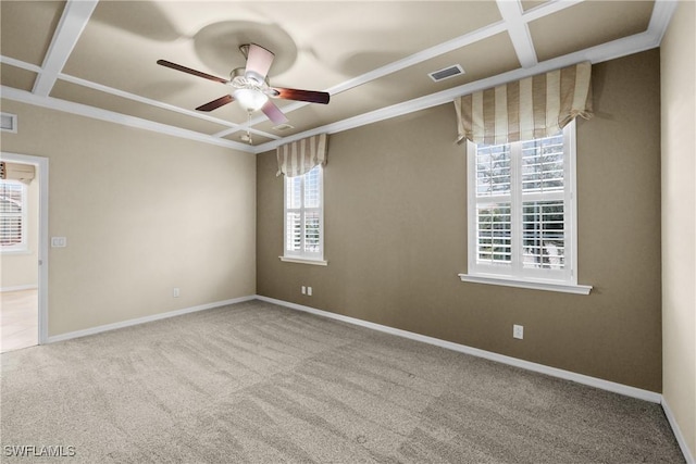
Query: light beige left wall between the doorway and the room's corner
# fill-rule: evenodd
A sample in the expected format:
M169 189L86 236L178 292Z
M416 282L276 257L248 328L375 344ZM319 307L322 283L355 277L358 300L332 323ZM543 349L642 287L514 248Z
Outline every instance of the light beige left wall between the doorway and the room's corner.
M256 292L253 154L12 101L49 159L49 335ZM172 289L181 288L181 298Z

